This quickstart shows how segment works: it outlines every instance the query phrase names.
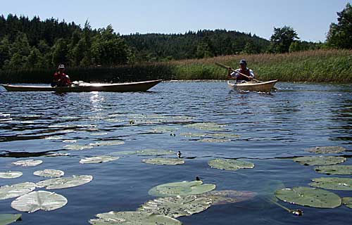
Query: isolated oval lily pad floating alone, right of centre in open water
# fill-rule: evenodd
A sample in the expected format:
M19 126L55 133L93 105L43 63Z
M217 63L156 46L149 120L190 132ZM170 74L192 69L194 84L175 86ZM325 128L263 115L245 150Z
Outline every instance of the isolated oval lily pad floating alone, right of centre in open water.
M237 169L252 169L254 164L241 160L232 159L214 159L208 161L209 167L215 169L237 170Z

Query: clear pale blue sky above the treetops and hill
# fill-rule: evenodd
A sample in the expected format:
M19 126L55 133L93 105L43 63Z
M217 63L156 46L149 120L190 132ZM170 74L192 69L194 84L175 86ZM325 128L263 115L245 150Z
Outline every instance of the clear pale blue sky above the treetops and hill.
M237 30L270 39L273 27L288 25L306 41L325 41L329 25L347 0L12 0L0 14L65 19L93 28L113 25L130 34L184 33L189 30Z

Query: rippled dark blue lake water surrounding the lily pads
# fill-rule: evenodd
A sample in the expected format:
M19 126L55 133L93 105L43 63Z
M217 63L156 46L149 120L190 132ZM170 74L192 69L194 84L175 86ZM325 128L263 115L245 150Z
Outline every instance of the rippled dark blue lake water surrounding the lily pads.
M23 172L15 179L0 179L0 186L41 181L44 178L33 175L41 169L61 169L65 176L94 176L82 186L49 190L65 196L68 204L51 212L22 212L23 221L18 224L23 225L88 224L97 213L134 211L155 198L148 195L153 186L193 181L196 176L204 184L216 184L216 190L257 195L179 217L183 224L351 224L352 211L345 206L318 209L279 201L290 209L303 210L303 217L295 217L268 203L265 196L280 185L308 186L311 179L328 176L292 160L314 155L305 152L306 148L342 146L347 151L334 155L352 156L352 85L276 86L279 91L272 94L230 91L225 82L163 82L146 93L0 92L0 172ZM197 122L220 124L219 130L187 127ZM239 136L221 139L220 133ZM113 140L125 144L64 148ZM185 163L149 165L141 161L151 157L140 155L120 155L119 160L100 164L79 163L94 155L142 149L180 150ZM51 153L70 155L48 157ZM255 167L212 169L207 162L213 158L241 158ZM27 159L43 163L36 167L11 165ZM351 158L343 163L351 164ZM332 192L352 196L352 191ZM0 213L19 213L11 208L13 200L0 200Z

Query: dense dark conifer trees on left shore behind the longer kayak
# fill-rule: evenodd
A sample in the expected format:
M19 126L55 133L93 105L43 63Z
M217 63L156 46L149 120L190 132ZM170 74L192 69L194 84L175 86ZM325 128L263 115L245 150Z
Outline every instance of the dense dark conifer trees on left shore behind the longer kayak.
M0 68L5 70L121 65L133 54L113 27L93 30L54 18L0 16Z

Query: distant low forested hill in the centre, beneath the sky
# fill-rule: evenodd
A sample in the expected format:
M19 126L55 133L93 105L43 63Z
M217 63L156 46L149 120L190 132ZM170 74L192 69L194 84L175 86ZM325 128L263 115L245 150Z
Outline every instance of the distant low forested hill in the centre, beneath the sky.
M227 30L199 30L185 34L130 34L122 36L137 60L160 61L207 58L237 53L262 53L270 42L255 34Z

